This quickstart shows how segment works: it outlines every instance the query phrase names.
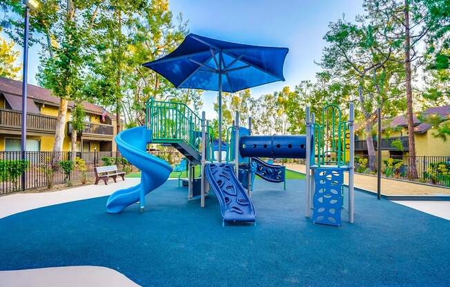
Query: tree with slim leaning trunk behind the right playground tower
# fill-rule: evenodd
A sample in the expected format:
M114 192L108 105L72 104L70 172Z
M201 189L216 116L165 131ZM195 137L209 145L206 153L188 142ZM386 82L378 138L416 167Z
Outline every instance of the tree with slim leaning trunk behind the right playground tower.
M357 23L339 20L330 23L324 39L329 46L324 48L320 66L343 81L350 81L358 87L358 103L364 116L364 131L369 168L375 170L375 147L372 140L374 112L380 106L382 90L379 86L379 71L386 69L391 59L392 48L378 41L375 33L378 26L364 23L364 17L357 17ZM375 92L373 92L373 88Z

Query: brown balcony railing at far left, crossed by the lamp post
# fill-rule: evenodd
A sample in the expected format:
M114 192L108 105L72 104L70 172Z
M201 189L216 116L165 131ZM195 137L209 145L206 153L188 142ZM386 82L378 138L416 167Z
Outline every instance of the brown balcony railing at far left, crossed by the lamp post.
M57 117L39 114L27 114L27 130L35 132L55 133ZM19 110L0 109L0 127L20 130L22 125L22 112Z

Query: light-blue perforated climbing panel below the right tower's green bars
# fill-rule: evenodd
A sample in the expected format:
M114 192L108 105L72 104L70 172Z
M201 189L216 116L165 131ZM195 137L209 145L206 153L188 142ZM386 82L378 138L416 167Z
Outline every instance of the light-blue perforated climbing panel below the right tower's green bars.
M317 168L314 175L313 197L315 224L341 226L342 184L344 171L341 168Z

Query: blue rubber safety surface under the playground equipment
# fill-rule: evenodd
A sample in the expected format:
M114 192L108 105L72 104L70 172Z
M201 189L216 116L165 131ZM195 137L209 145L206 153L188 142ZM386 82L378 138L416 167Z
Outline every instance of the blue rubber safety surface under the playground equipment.
M222 227L168 181L108 214L108 197L0 219L0 270L106 266L143 286L450 286L450 221L355 192L355 224L304 217L304 181L256 181L257 226Z

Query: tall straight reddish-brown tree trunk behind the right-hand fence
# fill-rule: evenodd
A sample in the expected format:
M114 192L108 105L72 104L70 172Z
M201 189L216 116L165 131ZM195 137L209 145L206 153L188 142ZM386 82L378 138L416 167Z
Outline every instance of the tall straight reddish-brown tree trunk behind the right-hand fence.
M415 167L415 141L414 141L414 119L413 119L413 88L411 86L411 38L409 28L409 3L404 0L404 71L406 77L407 92L407 122L409 143L409 178L417 177Z

